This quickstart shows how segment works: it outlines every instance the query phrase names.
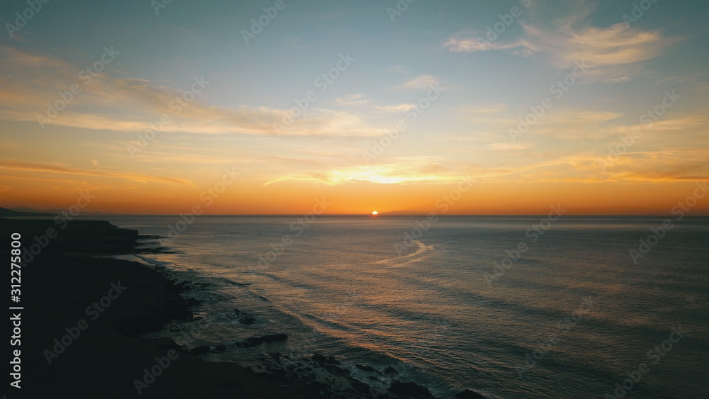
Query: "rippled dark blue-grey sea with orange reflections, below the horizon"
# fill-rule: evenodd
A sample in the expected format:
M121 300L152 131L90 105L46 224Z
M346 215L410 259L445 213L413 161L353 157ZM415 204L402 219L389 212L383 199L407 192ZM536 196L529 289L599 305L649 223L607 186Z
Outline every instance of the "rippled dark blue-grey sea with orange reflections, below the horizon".
M160 335L289 335L206 359L333 355L440 398L709 397L708 218L97 218L158 236L172 253L140 262L194 283L201 318Z

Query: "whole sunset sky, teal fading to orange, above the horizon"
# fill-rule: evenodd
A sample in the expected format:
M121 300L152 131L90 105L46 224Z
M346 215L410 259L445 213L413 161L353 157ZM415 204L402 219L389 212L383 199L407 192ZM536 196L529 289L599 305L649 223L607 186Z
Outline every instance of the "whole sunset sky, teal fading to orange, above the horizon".
M709 214L705 1L49 0L0 16L5 208Z

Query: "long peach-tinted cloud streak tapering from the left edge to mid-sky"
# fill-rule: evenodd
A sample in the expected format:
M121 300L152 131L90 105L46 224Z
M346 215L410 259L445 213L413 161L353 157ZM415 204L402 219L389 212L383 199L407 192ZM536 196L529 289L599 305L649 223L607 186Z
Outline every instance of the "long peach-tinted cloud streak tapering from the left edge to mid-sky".
M227 108L194 101L177 106L185 89L168 82L114 78L98 74L90 83L77 76L77 67L51 57L31 55L6 48L11 57L0 59L0 79L10 84L0 89L0 119L37 123L45 113L45 103L58 99L57 90L78 84L82 92L74 96L65 111L49 125L89 130L140 132L167 114L170 123L164 133L240 133L276 135L274 123L288 120L288 109L239 106ZM208 79L207 79L208 80ZM42 82L34 84L33 82ZM340 104L367 103L360 94L340 100ZM279 135L369 137L386 129L369 125L356 113L319 108L295 118Z

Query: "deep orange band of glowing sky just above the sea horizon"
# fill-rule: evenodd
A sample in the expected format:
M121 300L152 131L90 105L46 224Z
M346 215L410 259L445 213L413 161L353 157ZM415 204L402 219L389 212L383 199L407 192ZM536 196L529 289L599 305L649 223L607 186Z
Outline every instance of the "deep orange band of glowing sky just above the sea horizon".
M5 176L2 176L2 175ZM669 215L678 201L698 189L697 182L642 184L613 183L474 183L451 195L457 184L374 184L352 182L330 186L281 182L264 186L258 181L235 181L221 186L199 186L155 181L106 184L99 177L74 180L7 179L0 174L4 208L27 206L36 210L66 210L89 191L91 203L82 213L177 215L199 206L204 215L298 215L312 211L317 201L327 204L325 214L388 215L535 215L559 204L567 215ZM3 177L5 179L3 179ZM102 185L103 183L103 185ZM700 184L701 185L701 184ZM10 189L4 187L10 186ZM208 191L211 189L212 191ZM210 193L211 192L211 193ZM447 198L447 200L446 200ZM453 199L455 198L455 199ZM689 215L708 215L709 196L696 201ZM83 200L82 200L83 201ZM379 209L382 209L379 211Z

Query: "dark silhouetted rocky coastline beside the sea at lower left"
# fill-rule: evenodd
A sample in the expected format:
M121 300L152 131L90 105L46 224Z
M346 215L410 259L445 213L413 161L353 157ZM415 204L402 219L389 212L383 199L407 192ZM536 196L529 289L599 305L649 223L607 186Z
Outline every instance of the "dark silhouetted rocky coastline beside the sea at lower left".
M218 347L188 352L172 339L139 337L173 320L194 317L190 301L180 295L189 290L189 282L177 283L138 262L106 257L141 253L135 230L89 220L60 227L52 220L0 218L7 242L0 252L9 254L13 232L22 235L26 252L35 243L46 244L22 264L21 303L15 304L23 307L22 388L10 390L8 398L433 398L427 388L397 381L396 371L362 365L391 378L388 390L371 388L322 354L303 364L271 353L272 367L256 373L232 362L199 358ZM49 228L56 230L55 237L44 240ZM253 337L242 344L283 339L287 336ZM458 397L483 398L471 391Z

